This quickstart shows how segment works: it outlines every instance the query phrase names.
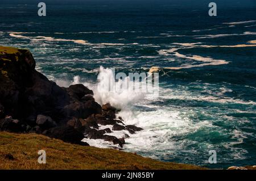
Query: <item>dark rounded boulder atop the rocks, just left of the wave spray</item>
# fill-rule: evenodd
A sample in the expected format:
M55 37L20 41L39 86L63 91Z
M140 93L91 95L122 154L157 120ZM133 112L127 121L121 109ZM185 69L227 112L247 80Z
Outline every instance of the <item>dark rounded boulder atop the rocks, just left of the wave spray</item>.
M82 84L72 85L68 87L68 94L75 97L78 100L81 100L81 98L84 95L91 94L93 95L93 91L88 89Z

